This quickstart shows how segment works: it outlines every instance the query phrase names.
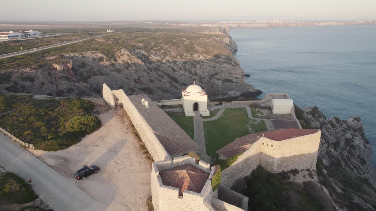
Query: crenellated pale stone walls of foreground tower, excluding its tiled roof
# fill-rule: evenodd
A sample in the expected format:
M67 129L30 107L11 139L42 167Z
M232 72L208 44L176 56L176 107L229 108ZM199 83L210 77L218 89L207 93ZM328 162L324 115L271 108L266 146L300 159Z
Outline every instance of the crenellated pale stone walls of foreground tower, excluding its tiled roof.
M191 164L206 173L209 173L201 193L184 190L183 196L179 196L179 188L166 186L163 184L160 171L171 169L176 166ZM244 211L248 206L248 197L230 190L221 185L212 190L211 179L214 175L215 167L210 169L210 165L205 161L196 163L194 158L189 156L176 157L173 160L164 160L153 163L151 173L152 199L155 211ZM224 202L218 197L220 194L229 195L233 200L237 200L242 208Z

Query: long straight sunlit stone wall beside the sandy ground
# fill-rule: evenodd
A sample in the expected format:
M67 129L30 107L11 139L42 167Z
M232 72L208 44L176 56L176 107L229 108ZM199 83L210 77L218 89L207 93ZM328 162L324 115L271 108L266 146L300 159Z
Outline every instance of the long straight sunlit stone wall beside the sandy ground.
M136 107L132 104L122 89L111 91L106 84L103 84L103 99L105 99L105 101L113 108L115 108L115 102L123 104L124 110L127 112L130 120L155 161L171 160L171 156L167 153L161 142L159 142L153 133L152 128L147 124L144 117L137 111Z

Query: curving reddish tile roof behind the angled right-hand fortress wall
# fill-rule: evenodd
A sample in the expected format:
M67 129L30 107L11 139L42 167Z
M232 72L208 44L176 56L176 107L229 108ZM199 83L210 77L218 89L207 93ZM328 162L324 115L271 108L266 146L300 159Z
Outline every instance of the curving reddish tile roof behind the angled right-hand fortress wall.
M217 153L227 158L233 155L240 154L242 152L247 151L252 146L253 143L255 143L257 140L261 138L262 135L274 141L282 141L286 139L291 139L293 137L314 134L316 132L317 130L290 128L290 129L284 129L284 130L271 130L271 131L264 131L264 132L259 132L259 133L252 133L252 134L248 134L246 136L240 137L238 139L235 139L233 142L219 149Z

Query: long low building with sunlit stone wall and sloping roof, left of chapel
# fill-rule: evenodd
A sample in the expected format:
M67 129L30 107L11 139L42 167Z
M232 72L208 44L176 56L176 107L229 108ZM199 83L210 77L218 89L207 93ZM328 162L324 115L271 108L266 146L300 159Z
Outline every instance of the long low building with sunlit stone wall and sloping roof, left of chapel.
M103 98L115 108L122 105L155 161L196 152L199 147L170 116L147 95L127 96L122 89L103 84Z

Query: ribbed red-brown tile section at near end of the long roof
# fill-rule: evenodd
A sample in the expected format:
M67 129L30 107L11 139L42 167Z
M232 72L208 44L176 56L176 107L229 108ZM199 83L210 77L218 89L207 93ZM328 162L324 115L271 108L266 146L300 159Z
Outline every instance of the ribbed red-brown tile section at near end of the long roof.
M184 152L195 151L199 149L197 145L191 143L185 143L180 140L171 139L161 133L153 131L155 136L158 138L159 142L164 146L168 154L177 155Z

